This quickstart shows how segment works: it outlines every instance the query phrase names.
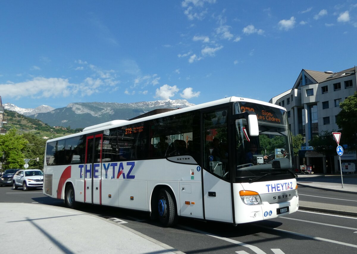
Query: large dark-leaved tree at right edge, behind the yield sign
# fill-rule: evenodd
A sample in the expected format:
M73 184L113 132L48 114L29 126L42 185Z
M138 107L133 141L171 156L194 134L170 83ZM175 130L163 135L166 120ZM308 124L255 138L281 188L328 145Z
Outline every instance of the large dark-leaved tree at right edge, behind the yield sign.
M352 149L357 145L357 92L340 103L336 123L341 130L341 141Z

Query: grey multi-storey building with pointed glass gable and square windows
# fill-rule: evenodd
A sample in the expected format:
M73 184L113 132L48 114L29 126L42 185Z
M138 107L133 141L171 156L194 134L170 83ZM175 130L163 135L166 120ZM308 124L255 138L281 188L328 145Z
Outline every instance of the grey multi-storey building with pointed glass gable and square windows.
M338 131L336 116L340 103L357 90L356 66L333 73L302 69L292 89L269 102L285 107L293 135L302 134L305 145L296 158L296 168L311 165L315 173L339 172L337 153L333 161L313 151L309 141L322 131ZM337 146L337 144L336 144ZM345 150L341 156L342 169L356 165L356 151Z

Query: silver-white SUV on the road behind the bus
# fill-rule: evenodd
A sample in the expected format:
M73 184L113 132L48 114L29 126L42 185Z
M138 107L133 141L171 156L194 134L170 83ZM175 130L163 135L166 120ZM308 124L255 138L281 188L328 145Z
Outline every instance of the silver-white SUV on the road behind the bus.
M22 187L22 190L29 190L29 188L43 188L44 173L39 169L25 169L17 171L12 180L12 187L14 190L17 187Z

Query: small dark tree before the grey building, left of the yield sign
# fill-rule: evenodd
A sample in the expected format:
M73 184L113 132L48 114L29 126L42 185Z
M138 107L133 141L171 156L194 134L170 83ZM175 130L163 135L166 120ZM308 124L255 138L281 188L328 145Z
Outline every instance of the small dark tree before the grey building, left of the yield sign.
M309 145L311 145L317 153L325 154L328 161L330 161L330 168L332 170L333 156L336 155L337 146L335 139L333 139L332 131L321 131L319 136L313 136L309 141Z

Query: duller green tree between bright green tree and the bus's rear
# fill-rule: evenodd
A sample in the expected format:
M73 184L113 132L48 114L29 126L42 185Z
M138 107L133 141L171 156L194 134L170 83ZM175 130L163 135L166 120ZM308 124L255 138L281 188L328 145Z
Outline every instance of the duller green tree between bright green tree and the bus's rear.
M25 152L24 152L25 158L26 159L39 158L39 161L30 160L29 167L43 169L46 140L44 140L32 133L24 133L23 136L29 142L25 148Z

